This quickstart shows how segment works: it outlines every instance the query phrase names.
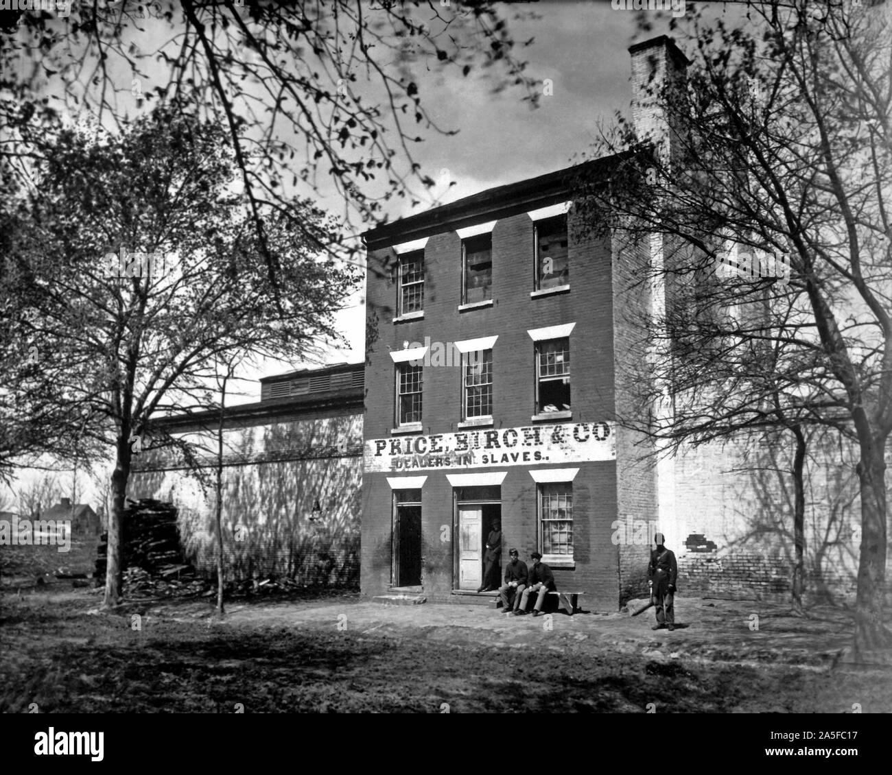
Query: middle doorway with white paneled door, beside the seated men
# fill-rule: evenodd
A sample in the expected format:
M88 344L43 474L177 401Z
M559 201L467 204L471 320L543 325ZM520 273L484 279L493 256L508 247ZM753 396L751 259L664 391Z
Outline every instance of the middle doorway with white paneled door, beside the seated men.
M486 538L493 522L501 519L501 488L458 487L454 492L456 588L475 592L483 585ZM501 578L501 566L498 573Z

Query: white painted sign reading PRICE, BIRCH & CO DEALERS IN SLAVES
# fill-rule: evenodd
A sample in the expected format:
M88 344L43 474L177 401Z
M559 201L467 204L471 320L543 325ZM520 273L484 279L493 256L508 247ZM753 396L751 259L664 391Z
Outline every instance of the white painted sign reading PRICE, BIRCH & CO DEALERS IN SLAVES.
M394 436L366 441L363 471L375 474L615 460L615 439L613 423L563 423L432 436Z

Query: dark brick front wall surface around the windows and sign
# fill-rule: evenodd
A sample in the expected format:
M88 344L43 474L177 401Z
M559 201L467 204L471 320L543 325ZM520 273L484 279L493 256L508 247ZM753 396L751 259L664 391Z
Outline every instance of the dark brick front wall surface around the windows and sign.
M425 342L425 336L434 342L455 342L498 335L493 349L494 427L518 427L531 425L534 411L534 345L527 329L575 322L570 335L572 422L603 422L614 415L611 246L603 235L575 235L572 218L569 231L571 290L531 298L533 220L525 213L501 218L492 231L493 304L463 312L458 311L460 239L452 231L431 236L425 246L425 317L396 324L392 322L396 284L378 279L374 271L392 267L392 252L371 252L366 298L368 327L376 337L367 341L367 440L391 435L394 364L389 352L401 350L403 342ZM459 368L425 367L422 433L460 430L460 390ZM615 611L618 552L610 540L617 514L615 464L573 467L580 469L573 483L576 563L572 569L556 568L556 581L562 589L585 590L586 606L592 610ZM516 546L525 559L538 543L535 482L524 466L504 470L505 546ZM453 585L453 547L440 540L442 526L453 522L452 491L445 473L412 472L428 477L422 492L422 531L425 595L432 600L451 598ZM392 491L384 474L366 475L362 510L361 587L363 594L375 595L391 581Z

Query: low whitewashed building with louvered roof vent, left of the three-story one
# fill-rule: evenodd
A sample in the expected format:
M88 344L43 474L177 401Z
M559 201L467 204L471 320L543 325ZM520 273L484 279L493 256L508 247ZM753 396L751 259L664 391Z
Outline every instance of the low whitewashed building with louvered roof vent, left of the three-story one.
M359 581L363 367L340 365L260 380L260 401L223 412L222 524L231 578L282 576L308 585ZM128 498L178 507L186 556L216 564L220 413L170 417L165 430L193 445L136 457Z

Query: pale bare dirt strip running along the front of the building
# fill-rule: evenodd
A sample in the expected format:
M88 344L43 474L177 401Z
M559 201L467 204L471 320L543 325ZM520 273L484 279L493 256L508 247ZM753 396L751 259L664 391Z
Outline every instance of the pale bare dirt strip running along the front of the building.
M207 615L206 606L201 605L149 610L186 621ZM655 632L650 629L653 611L636 617L558 613L533 618L504 616L486 606L382 606L344 600L309 605L235 604L227 608L227 625L311 627L466 647L569 648L588 654L609 648L657 658L821 668L831 664L851 638L846 614L833 608L818 613L820 618L804 619L791 615L785 606L693 598L679 607L679 629Z

